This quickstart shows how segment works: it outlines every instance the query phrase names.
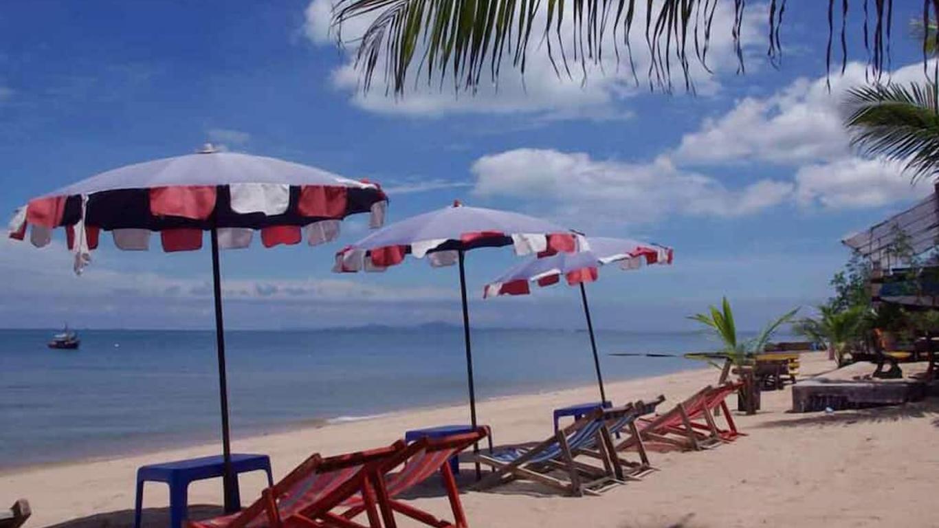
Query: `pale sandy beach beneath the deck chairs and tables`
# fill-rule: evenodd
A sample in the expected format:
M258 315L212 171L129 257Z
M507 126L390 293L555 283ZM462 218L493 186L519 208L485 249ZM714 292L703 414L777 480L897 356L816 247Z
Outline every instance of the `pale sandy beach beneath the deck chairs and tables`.
M821 353L804 356L802 375L831 370ZM870 367L870 368L869 368ZM872 370L870 365L854 369ZM716 380L702 368L668 376L610 383L617 401L664 394L676 402ZM551 410L595 398L593 386L485 401L481 420L495 441L541 440L550 432ZM715 450L654 453L661 471L600 497L569 498L548 489L511 485L463 495L472 526L931 526L930 508L939 457L934 401L857 412L793 414L790 391L765 392L762 412L736 417L747 437ZM465 420L462 407L400 412L361 422L240 439L238 452L268 453L275 478L312 452L336 454L391 443L408 428ZM26 497L34 516L27 526L130 526L136 468L146 463L217 452L214 444L125 458L27 468L0 476L0 497ZM465 472L463 478L469 477ZM242 501L258 496L261 474L241 477ZM221 501L218 481L192 485L192 517ZM445 515L448 505L430 487L415 498ZM146 489L145 524L165 523L166 489ZM408 526L408 524L405 524Z

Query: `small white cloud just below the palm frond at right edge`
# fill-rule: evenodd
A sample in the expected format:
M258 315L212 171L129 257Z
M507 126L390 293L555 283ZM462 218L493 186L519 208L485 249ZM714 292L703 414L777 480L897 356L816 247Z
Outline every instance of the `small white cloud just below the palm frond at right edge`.
M880 207L931 191L930 185L910 185L899 163L860 158L800 167L795 181L800 204L829 209Z

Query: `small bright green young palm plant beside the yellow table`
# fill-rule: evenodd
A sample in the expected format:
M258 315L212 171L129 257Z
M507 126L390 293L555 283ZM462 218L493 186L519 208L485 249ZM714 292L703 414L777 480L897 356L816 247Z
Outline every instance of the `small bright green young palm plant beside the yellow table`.
M720 309L712 305L709 307L708 312L695 314L688 318L708 327L723 345L722 349L718 351L719 357L724 358L724 365L718 381L723 383L730 376L732 365L752 364L754 356L766 348L766 344L769 343L779 327L792 321L798 311L799 309L795 308L774 319L762 329L760 334L746 341L741 341L737 337L737 326L733 320L733 310L731 310L731 303L726 297L723 298ZM707 355L696 356L695 354L691 354L689 357L709 358Z

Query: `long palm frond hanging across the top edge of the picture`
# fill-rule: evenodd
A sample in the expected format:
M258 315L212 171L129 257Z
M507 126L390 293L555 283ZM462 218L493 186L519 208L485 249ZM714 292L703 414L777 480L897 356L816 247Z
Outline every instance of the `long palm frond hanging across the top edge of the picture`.
M768 8L766 54L777 65L782 56L780 27L792 7L787 0L769 0L768 6L750 3ZM363 89L379 73L395 94L403 94L408 81L422 78L441 86L449 78L455 88L474 91L484 82L498 81L503 63L524 73L531 53L546 53L559 75L573 76L572 69L576 69L583 79L588 64L602 67L603 57L611 53L617 64L628 62L638 83L633 43L640 39L650 58L645 76L651 88L670 90L672 74L680 70L685 89L693 91L690 65L697 61L710 71L712 25L722 4L732 9L731 39L738 71L743 72L741 28L747 0L338 0L333 23L341 29L353 19L369 21L364 33L354 39ZM849 11L863 16L868 64L874 78L880 79L889 67L893 0L794 4L815 16L827 7L827 70L836 34L842 71L847 64ZM939 13L939 0L922 0L922 6L923 23L929 26ZM573 33L564 34L565 27ZM529 45L532 38L537 45ZM924 31L922 39L925 54L925 44L939 35Z

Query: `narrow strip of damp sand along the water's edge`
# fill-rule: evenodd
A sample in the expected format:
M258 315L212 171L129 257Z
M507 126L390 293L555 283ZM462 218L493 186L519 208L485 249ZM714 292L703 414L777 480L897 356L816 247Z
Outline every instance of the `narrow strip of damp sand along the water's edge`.
M690 361L690 360L689 360ZM706 365L691 365L686 369L680 369L671 371L666 374L655 374L653 376L639 376L636 378L618 378L613 380L605 380L605 385L612 385L623 382L630 382L636 380L654 380L655 378L664 378L672 374L678 374L682 372L695 371L701 369L708 369L710 367ZM593 388L595 390L596 383L593 384L577 384L577 382L571 382L570 384L562 384L555 387L547 387L538 392L518 392L518 393L506 393L498 396L489 396L481 399L477 399L477 405L483 405L485 403L498 402L504 399L511 399L519 396L541 396L546 394L553 394L563 391L587 391ZM599 399L599 396L597 396ZM257 439L262 439L269 437L271 435L280 435L280 434L289 434L298 431L305 430L317 430L322 429L323 427L335 427L341 426L344 424L353 424L363 421L375 420L380 418L393 418L395 415L405 415L412 414L415 412L434 412L442 410L452 410L452 409L469 409L469 401L447 401L439 402L429 405L415 405L408 407L401 407L398 409L389 410L386 412L375 412L375 413L366 413L362 415L340 415L329 418L304 418L300 420L290 421L285 424L272 426L272 427L248 427L249 430L243 431L242 435L234 433L232 435L232 443L237 442L252 442ZM214 418L218 418L215 416ZM253 429L253 430L251 430ZM167 433L174 434L174 433ZM164 440L154 440L152 443L145 443L137 447L129 447L126 449L120 450L110 450L109 453L93 453L87 455L76 455L76 456L66 456L62 459L57 460L46 460L46 461L26 461L22 464L12 464L12 465L0 465L0 477L8 476L9 474L18 474L27 472L34 469L45 469L45 468L56 468L63 466L70 466L75 464L86 464L93 462L107 462L120 458L130 458L130 457L145 457L149 455L159 455L165 452L186 450L186 449L208 449L209 447L215 446L218 449L221 449L221 440L208 441L202 440L201 437L204 436L218 436L220 434L218 427L212 429L205 429L199 431L199 439L189 438L189 439L179 439L179 438L168 438Z

